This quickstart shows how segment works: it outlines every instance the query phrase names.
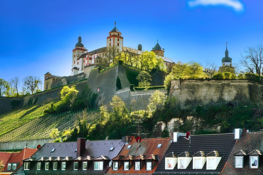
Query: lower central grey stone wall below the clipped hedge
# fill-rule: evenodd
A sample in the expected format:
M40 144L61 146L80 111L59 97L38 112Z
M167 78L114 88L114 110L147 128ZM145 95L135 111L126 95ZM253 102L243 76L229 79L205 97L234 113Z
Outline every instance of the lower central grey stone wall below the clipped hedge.
M126 107L129 108L131 103L133 103L134 109L146 109L149 104L149 98L154 91L159 90L167 95L166 89L150 89L150 90L141 90L141 91L131 91L129 87L123 88L116 91L116 95L126 104Z

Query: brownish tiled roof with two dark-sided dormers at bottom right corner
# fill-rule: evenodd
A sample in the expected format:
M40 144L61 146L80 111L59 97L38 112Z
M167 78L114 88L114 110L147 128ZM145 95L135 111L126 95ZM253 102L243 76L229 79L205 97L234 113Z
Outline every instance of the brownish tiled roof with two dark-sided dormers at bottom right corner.
M241 139L237 140L231 154L227 160L227 164L222 172L223 175L259 175L263 174L263 164L259 162L259 168L249 168L249 156L244 157L244 168L234 168L234 154L245 150L251 153L254 150L263 150L263 132L244 132ZM254 151L258 152L258 151ZM260 161L260 160L259 160ZM262 160L261 160L262 161Z

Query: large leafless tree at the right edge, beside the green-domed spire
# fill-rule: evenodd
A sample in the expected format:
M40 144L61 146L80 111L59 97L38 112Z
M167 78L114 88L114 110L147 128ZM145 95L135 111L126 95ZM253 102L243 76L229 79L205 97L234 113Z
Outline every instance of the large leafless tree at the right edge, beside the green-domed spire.
M263 47L257 45L255 47L247 47L244 54L241 54L240 64L250 73L262 74L263 68Z

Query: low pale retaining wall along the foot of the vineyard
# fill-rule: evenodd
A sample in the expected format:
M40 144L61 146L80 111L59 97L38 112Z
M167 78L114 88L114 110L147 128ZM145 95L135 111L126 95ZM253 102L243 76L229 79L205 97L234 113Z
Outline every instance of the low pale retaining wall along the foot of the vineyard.
M35 140L22 140L15 142L1 142L0 150L18 150L23 149L25 146L28 148L36 148L38 145L43 146L45 143L53 142L52 138L35 139Z

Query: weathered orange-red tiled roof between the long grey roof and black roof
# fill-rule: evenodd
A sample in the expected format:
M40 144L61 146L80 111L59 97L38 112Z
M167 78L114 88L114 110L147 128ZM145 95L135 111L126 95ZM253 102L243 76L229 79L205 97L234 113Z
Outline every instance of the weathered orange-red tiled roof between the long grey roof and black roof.
M127 145L124 145L119 153L119 157L120 155L125 157L121 160L119 157L115 157L113 158L113 161L128 161L131 160L131 158L132 160L139 160L141 158L141 160L148 159L156 161L153 169L151 171L146 171L146 164L144 164L140 171L134 170L134 166L131 166L129 171L124 171L122 164L117 171L113 171L112 168L109 168L107 174L152 174L155 172L156 168L161 162L161 159L164 157L168 147L170 146L170 140L171 138L147 138L141 139L141 142L137 143L135 139L132 139ZM162 144L160 148L157 148L158 144ZM128 145L131 145L129 149L127 149Z

